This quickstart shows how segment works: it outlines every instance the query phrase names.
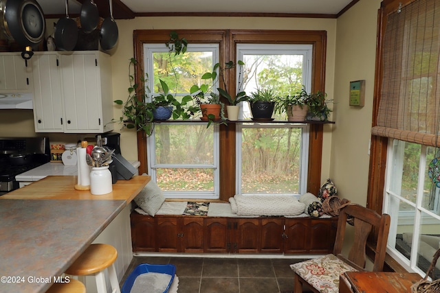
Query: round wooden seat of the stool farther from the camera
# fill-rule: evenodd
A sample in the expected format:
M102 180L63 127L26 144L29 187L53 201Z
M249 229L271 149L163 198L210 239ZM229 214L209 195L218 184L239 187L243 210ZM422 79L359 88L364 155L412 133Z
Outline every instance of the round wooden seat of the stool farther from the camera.
M91 244L65 273L74 276L94 274L111 266L117 257L118 251L113 246L108 244Z

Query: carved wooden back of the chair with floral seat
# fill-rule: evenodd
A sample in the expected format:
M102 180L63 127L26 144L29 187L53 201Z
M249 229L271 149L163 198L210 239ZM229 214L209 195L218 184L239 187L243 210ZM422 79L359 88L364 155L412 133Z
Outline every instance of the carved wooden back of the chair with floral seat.
M349 215L351 215L350 222L353 223L354 240L348 257L345 257L341 255L341 251ZM377 236L377 238L375 238L377 242L375 245L373 244L372 247L374 253L373 272L380 272L384 268L389 228L390 215L386 213L379 215L375 211L362 207L359 204L350 204L340 211L333 255L347 262L350 266L353 266L353 268L364 270L366 264L367 239L373 231Z

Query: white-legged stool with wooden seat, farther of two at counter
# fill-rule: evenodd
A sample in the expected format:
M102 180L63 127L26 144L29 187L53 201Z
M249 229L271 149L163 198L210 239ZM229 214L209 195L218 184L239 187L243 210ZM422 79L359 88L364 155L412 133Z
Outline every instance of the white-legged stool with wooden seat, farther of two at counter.
M108 244L91 244L85 252L76 259L65 273L73 276L92 274L96 279L98 293L107 293L104 270L108 268L112 293L120 293L118 276L113 263L118 257L118 251ZM85 278L82 278L85 280Z

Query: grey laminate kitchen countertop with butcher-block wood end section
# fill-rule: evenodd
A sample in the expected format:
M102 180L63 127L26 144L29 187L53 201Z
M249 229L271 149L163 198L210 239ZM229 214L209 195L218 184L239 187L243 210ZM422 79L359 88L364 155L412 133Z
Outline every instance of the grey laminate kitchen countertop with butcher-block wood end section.
M0 196L0 292L45 292L149 180L93 196L74 189L76 176L47 176Z

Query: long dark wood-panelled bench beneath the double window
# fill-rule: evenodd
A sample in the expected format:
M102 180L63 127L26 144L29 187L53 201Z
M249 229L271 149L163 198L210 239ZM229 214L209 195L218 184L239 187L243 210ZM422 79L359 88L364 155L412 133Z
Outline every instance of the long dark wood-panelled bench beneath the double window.
M240 216L211 202L206 215L184 215L186 202L164 202L154 217L131 212L133 252L325 254L338 218Z

